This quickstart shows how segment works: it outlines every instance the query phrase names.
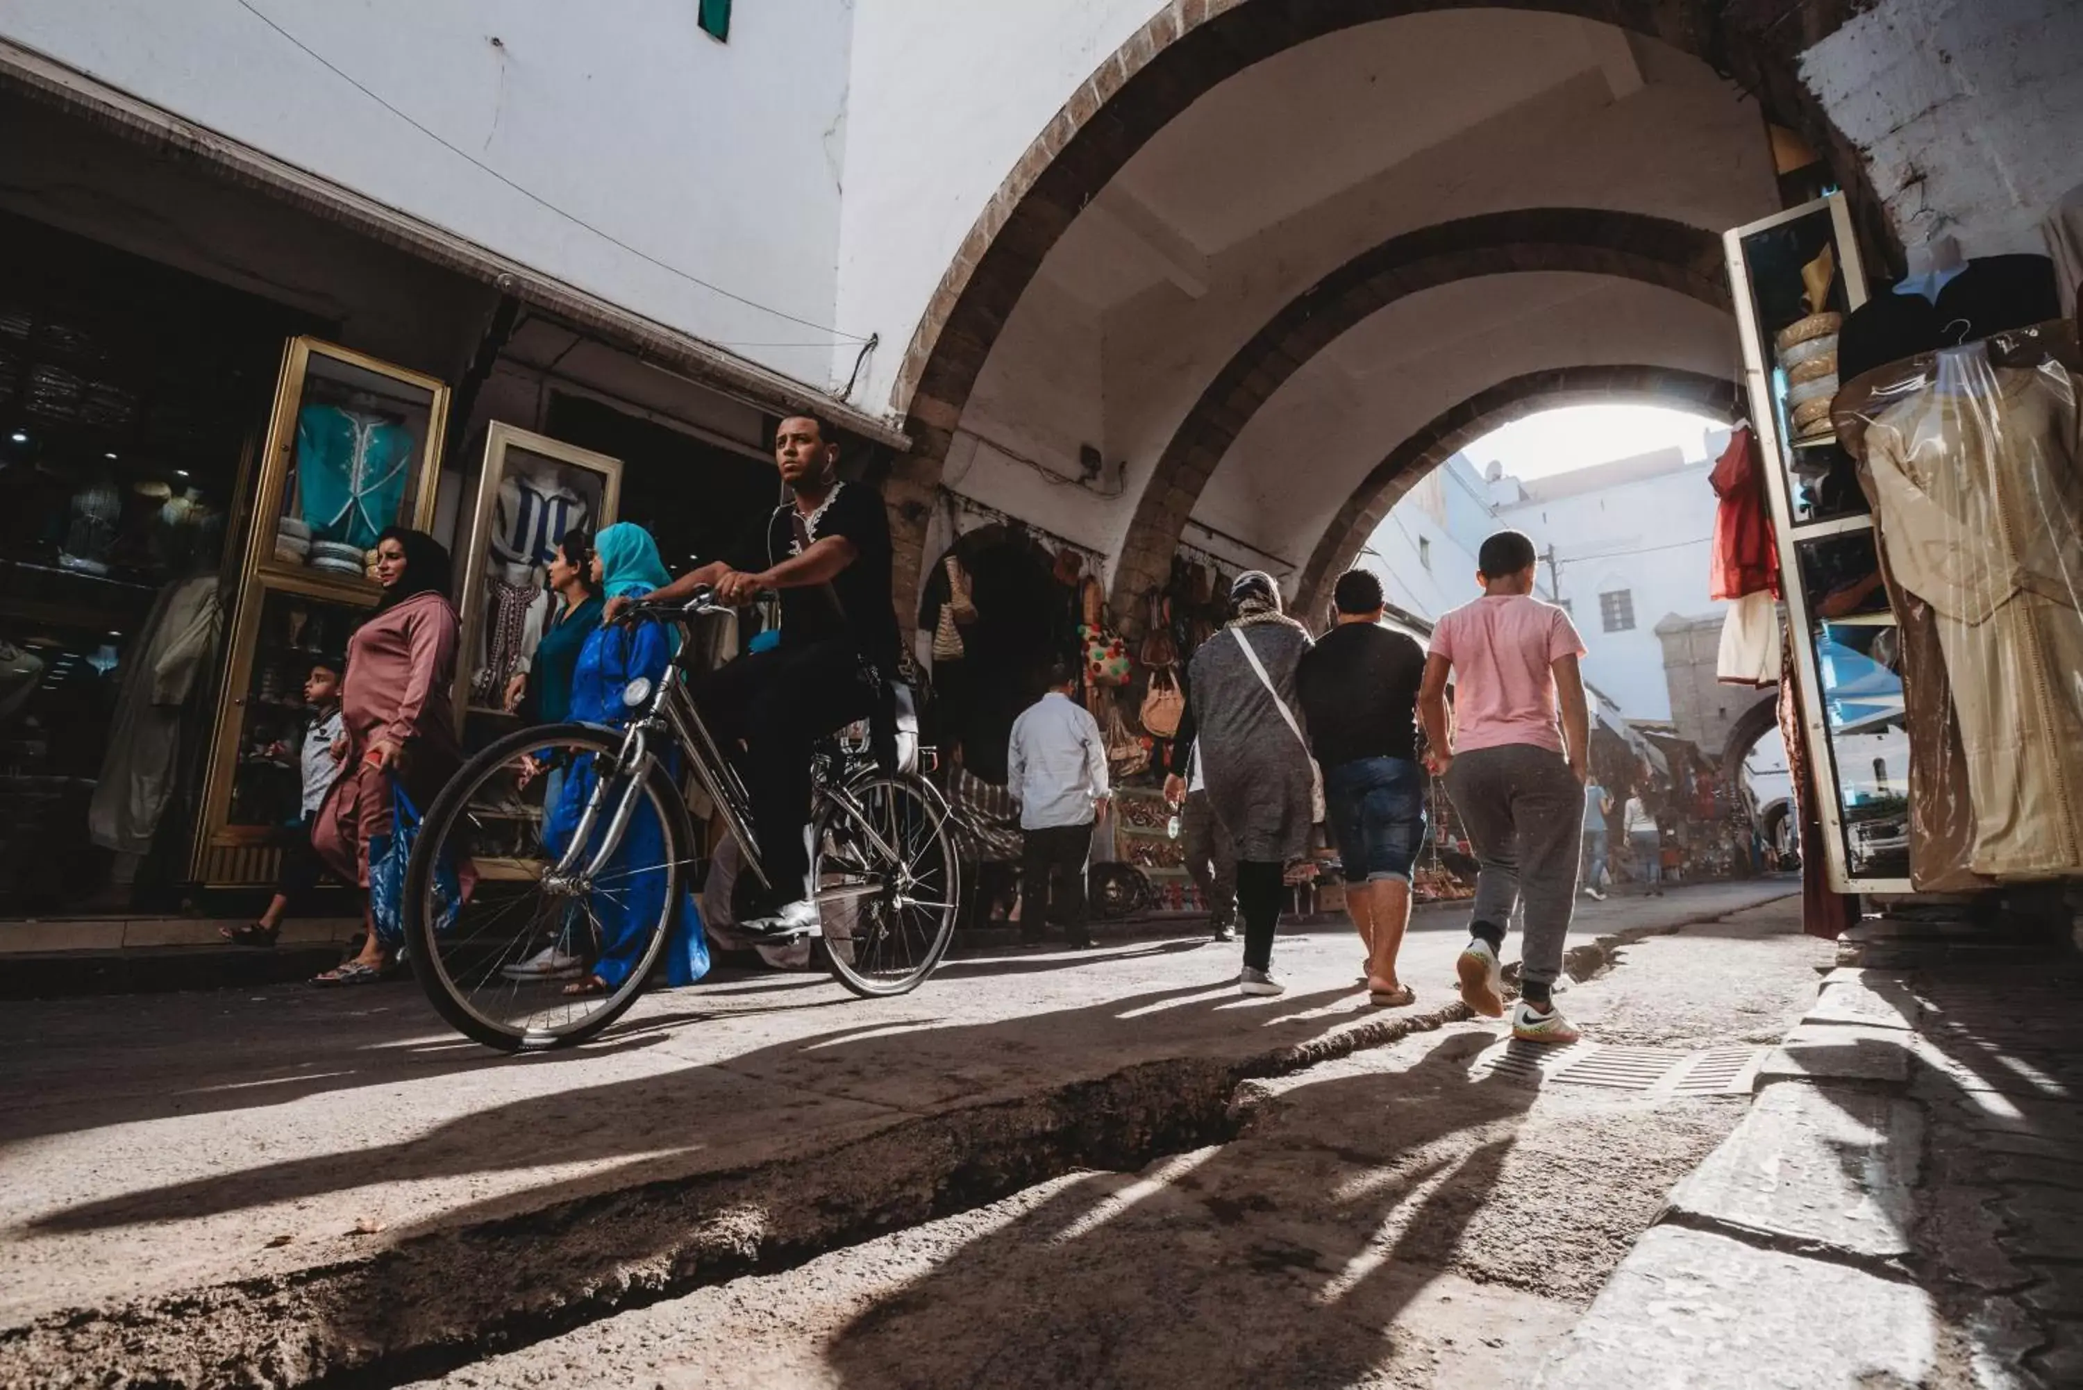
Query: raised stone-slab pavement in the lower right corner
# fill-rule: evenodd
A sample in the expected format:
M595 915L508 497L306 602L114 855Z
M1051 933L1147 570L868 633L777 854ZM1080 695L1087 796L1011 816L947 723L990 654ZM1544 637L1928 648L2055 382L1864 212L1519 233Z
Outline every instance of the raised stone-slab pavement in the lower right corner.
M1535 1384L2083 1384L2079 990L2073 957L1829 973Z

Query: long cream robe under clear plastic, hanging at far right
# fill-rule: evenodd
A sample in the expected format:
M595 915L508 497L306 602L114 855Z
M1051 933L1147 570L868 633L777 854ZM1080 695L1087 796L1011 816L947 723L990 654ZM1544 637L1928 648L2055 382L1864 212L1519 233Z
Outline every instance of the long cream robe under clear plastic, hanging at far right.
M1939 356L1866 429L1889 573L1935 613L1991 877L2083 865L2083 473L2068 371Z

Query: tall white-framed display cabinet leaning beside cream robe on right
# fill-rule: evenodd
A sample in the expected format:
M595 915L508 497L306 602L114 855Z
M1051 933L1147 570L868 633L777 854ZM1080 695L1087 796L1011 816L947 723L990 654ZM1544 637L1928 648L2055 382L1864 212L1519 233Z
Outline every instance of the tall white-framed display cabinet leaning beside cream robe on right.
M1723 235L1743 344L1793 681L1814 773L1829 884L1910 892L1900 638L1881 588L1858 465L1837 444L1837 329L1866 302L1843 194Z

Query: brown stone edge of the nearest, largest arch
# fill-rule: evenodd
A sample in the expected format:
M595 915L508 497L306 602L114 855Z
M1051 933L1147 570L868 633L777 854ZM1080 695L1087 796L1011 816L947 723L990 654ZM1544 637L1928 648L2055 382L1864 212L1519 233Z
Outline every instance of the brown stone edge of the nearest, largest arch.
M921 546L933 490L992 346L1083 206L1164 125L1244 69L1341 29L1448 8L1523 8L1575 15L1671 44L1731 75L1764 110L1800 131L1852 194L1871 246L1891 258L1898 240L1873 196L1858 150L1802 83L1798 56L1864 0L1169 0L1108 54L1021 154L912 331L892 388L912 450L894 461L896 604L917 611Z

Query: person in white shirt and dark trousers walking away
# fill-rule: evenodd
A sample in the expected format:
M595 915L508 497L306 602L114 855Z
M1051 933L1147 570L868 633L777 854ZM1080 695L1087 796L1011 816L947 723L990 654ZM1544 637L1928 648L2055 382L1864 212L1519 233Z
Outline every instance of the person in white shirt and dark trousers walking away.
M1050 663L1048 692L1012 721L1006 786L1021 806L1021 942L1044 940L1054 919L1073 946L1085 932L1085 865L1091 827L1106 815L1106 740L1100 721L1071 698L1081 671Z

